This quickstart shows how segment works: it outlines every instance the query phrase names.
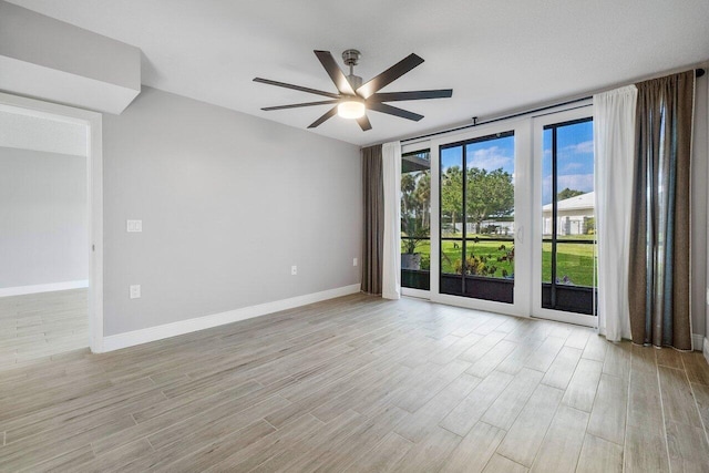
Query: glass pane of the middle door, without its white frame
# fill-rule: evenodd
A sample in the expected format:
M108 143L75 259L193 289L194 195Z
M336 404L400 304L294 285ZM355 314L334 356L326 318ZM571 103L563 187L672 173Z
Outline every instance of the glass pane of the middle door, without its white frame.
M440 147L440 294L514 301L514 132Z

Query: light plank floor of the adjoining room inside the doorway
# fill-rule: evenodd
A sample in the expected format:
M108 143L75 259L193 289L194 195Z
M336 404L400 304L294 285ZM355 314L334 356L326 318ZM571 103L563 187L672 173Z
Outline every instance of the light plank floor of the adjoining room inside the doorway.
M0 370L88 347L88 292L0 297Z

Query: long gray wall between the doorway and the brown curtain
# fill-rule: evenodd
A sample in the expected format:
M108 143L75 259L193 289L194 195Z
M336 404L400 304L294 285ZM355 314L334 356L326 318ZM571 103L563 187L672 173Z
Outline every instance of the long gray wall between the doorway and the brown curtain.
M106 336L359 282L354 145L144 88L103 166Z

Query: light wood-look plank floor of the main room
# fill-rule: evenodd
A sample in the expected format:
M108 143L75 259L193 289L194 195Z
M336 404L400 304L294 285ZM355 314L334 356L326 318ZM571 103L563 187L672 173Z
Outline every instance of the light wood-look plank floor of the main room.
M0 372L0 471L709 471L700 353L357 295Z

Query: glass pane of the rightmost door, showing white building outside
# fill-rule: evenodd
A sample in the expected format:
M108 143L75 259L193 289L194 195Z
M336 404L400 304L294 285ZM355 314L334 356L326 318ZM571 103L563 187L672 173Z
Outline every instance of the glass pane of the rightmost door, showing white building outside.
M593 120L542 132L542 307L596 312Z

